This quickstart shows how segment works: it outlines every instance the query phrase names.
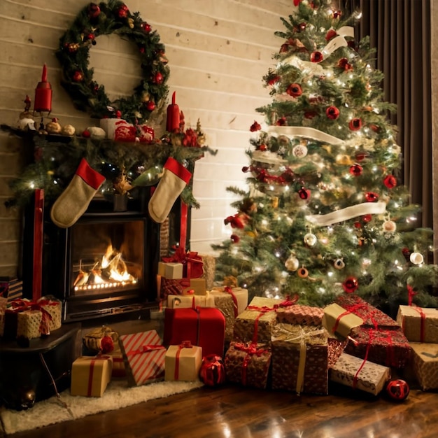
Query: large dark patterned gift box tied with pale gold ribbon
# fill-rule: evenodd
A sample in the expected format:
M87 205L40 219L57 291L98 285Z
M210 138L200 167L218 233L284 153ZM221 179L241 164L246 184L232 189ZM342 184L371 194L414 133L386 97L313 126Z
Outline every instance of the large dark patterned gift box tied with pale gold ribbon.
M328 343L324 328L280 323L271 338L272 389L328 394Z

